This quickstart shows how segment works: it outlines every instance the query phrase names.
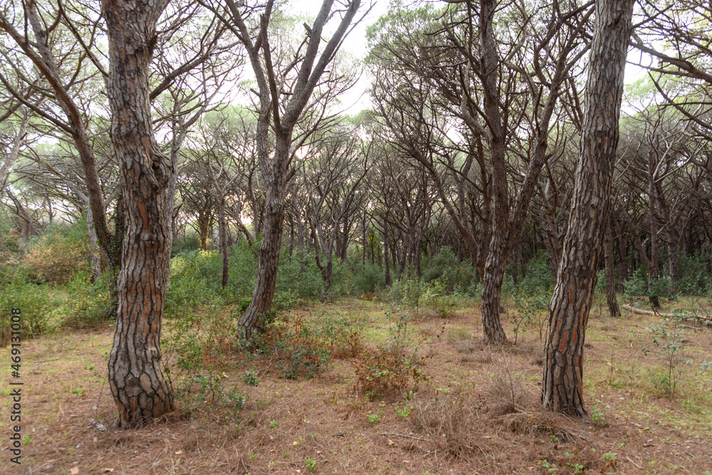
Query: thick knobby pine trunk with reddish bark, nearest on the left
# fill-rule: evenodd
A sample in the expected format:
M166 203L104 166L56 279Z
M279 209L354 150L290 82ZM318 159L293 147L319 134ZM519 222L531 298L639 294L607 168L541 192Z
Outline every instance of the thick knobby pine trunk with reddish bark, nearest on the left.
M125 233L109 385L120 427L173 410L161 369L169 164L152 133L148 72L165 1L104 0L109 37L111 139L123 187Z

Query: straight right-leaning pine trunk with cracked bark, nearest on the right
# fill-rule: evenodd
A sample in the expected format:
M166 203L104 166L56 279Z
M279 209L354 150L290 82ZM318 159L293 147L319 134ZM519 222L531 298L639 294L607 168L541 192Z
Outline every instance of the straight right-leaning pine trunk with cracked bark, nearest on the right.
M610 209L634 0L597 0L580 156L546 330L542 402L585 416L583 346Z

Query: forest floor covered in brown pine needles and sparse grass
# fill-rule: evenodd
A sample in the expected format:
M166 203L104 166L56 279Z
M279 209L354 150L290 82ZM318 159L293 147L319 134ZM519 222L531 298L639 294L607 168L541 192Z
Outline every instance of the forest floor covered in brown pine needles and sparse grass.
M712 306L709 299L697 304ZM663 311L693 305L664 302ZM358 343L366 356L332 358L313 378L295 380L285 378L278 352L234 353L229 370L214 380L244 395L241 410L219 404L187 410L179 399L167 417L131 430L112 425L116 412L106 383L112 327L26 340L21 465L10 462L11 398L4 384L0 473L712 473L711 329L693 321L660 326L660 316L630 311L612 319L596 304L584 353L589 416L572 420L540 407L538 323L545 315L528 314L513 344L515 322L525 312L511 302L505 307L510 343L500 347L483 346L477 307L449 319L413 316L399 333L407 336L400 340L405 353L415 356L410 379L391 380L397 390L384 386L365 397L373 383L364 376L365 358L394 338L389 328L398 311L360 300L302 305L289 319L356 315L367 322ZM171 334L171 325L166 322L164 333ZM7 383L9 349L1 352L8 363L0 379Z

